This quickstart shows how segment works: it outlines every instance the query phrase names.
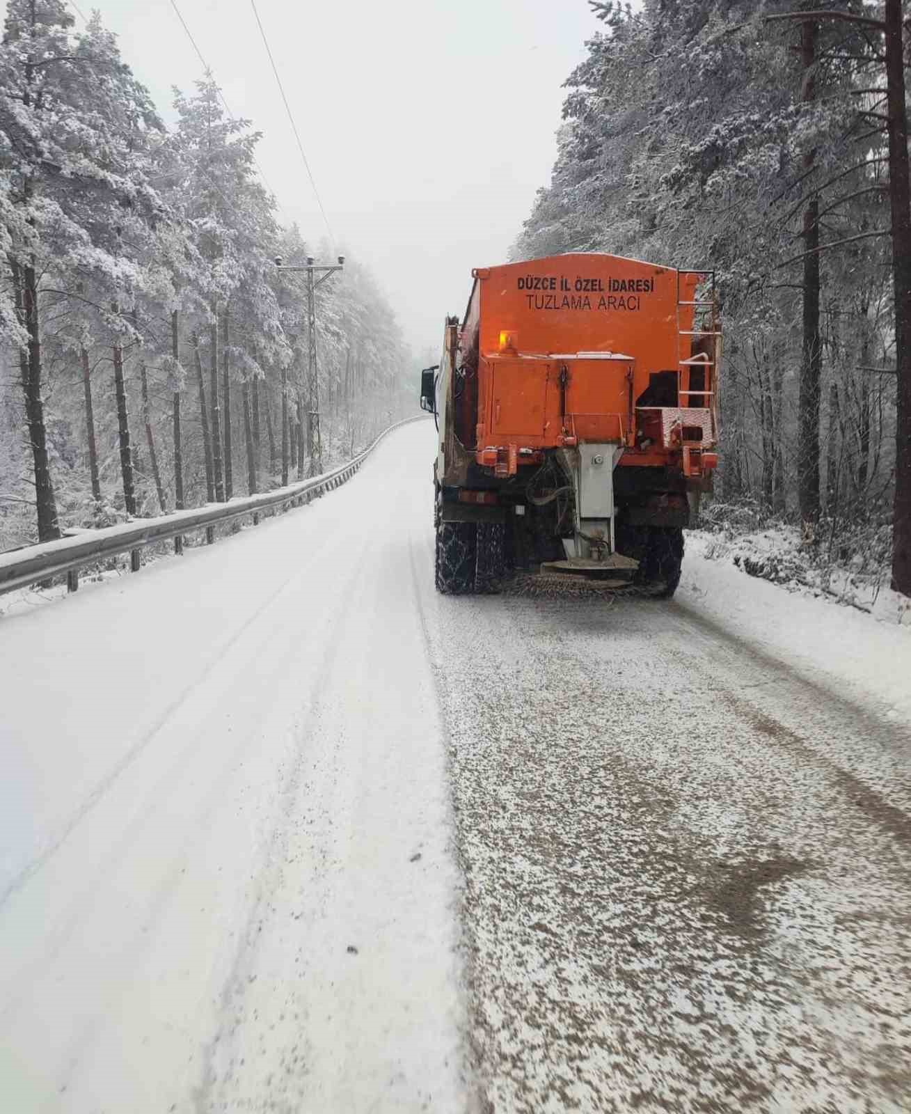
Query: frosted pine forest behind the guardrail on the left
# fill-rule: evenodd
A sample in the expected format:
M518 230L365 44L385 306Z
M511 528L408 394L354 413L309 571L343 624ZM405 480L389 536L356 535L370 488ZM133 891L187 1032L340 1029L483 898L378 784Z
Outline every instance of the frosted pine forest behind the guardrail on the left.
M310 475L413 409L355 258L283 227L213 76L166 127L96 12L10 0L0 47L0 550ZM321 457L316 449L321 448Z

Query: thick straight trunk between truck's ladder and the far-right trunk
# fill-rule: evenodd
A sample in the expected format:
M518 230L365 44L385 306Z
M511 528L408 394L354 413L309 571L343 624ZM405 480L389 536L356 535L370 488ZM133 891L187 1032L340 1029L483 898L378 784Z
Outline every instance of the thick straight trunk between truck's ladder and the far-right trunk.
M819 23L801 23L804 104L816 99L816 38ZM805 172L813 168L815 153L803 156ZM814 196L803 214L803 359L800 387L800 432L797 438L797 497L801 518L812 521L820 514L820 380L822 340L820 338L820 203Z

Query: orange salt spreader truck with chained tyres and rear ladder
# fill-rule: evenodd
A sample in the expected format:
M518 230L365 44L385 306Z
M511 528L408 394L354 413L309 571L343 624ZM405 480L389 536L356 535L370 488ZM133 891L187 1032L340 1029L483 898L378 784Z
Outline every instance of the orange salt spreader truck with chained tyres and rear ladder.
M438 590L522 571L672 596L717 463L714 273L585 253L472 275L421 377Z

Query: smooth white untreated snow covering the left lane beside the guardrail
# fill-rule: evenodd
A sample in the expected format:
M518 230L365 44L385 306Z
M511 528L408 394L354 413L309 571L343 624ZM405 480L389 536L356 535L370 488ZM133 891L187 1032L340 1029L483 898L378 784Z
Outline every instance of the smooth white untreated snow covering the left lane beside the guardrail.
M460 1106L444 750L388 514L425 528L425 436L0 619L4 1110Z

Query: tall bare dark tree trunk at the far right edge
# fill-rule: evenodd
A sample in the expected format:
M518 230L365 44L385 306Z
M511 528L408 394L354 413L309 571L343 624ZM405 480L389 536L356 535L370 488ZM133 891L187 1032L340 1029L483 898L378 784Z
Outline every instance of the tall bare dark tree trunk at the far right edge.
M901 0L885 0L884 14L889 196L892 208L892 278L898 371L892 587L905 596L911 596L911 182L908 169L908 111L904 95Z

